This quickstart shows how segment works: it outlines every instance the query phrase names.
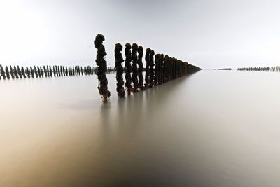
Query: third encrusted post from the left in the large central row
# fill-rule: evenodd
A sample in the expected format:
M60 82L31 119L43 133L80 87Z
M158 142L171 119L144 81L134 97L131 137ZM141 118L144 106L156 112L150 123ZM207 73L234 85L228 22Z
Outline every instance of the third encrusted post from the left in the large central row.
M127 88L127 95L130 95L132 92L132 77L131 77L131 72L132 72L132 66L131 66L131 61L132 61L132 53L131 53L131 45L130 43L125 44L125 87Z

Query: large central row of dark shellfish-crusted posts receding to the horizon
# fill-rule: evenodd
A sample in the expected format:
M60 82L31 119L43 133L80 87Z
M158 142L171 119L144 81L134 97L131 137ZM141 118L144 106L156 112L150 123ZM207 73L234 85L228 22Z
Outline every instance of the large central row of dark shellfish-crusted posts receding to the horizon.
M108 90L108 80L106 78L107 62L104 57L107 55L103 42L105 38L102 34L97 34L94 44L97 48L96 64L98 66L97 76L99 80L98 90L104 102L107 102L111 96ZM168 55L156 54L151 48L146 49L146 74L144 83L144 65L142 58L144 55L144 48L138 46L136 43L125 44L125 60L123 59L123 46L120 43L115 47L116 60L116 79L117 92L119 97L125 97L125 90L127 95L131 92L139 92L139 90L146 90L153 88L153 86L167 83L175 78L185 76L187 74L200 71L200 67L195 67L192 64L177 60ZM122 63L125 62L125 82L123 81L124 67ZM125 87L124 87L125 85Z

